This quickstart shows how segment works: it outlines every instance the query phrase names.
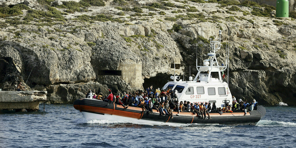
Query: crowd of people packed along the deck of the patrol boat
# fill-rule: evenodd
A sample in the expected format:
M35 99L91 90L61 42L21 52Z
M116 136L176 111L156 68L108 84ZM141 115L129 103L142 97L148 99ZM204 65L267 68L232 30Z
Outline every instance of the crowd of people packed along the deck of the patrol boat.
M123 92L116 94L109 89L109 94L103 96L101 92L99 95L96 95L94 92L89 91L86 94L86 98L93 98L110 103L116 103L123 106L127 109L129 106L132 107L140 107L143 112L147 114L152 113L153 110L157 110L160 113L160 116L171 116L173 118L173 112L178 112L176 114L179 116L180 112L192 112L194 115L199 116L200 118L206 119L206 115L208 119L211 119L210 112L218 112L219 114L223 114L223 112L240 112L244 111L244 115L247 115L247 111L257 110L258 102L254 99L253 102L248 103L247 100L242 101L239 99L237 102L236 98L232 96L232 105L227 103L226 107L216 107L215 102L213 105L211 103L196 103L189 101L180 101L177 98L177 91L171 90L168 88L167 90L160 90L157 88L153 89L151 85L144 91L137 90L134 92ZM211 106L212 105L212 106Z

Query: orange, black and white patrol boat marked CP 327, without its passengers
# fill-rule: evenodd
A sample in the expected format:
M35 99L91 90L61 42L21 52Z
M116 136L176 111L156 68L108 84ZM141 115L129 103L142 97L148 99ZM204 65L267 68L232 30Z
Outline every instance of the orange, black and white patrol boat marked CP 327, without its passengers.
M221 38L221 30L219 31ZM215 102L216 107L226 107L226 104L232 104L232 97L228 87L228 83L223 82L221 72L226 70L229 65L229 52L225 65L219 65L216 52L221 48L221 39L218 41L210 41L210 52L207 54L208 59L203 60L203 66L196 68L198 73L193 79L189 77L189 81L179 80L179 76L171 76L173 81L165 84L163 89L169 87L173 92L177 91L179 101L189 102ZM226 49L229 51L229 49ZM197 63L197 60L196 60ZM211 75L218 73L219 78L213 78ZM224 75L223 75L224 77ZM228 78L228 77L227 77ZM179 81L177 81L179 80ZM228 82L228 81L227 81ZM202 124L252 124L255 125L266 114L263 106L258 106L257 110L252 112L210 112L211 119L202 119L192 112L180 112L179 116L175 116L177 112L173 112L174 118L171 116L160 116L157 110L152 113L144 113L140 107L129 106L127 109L115 103L108 104L107 102L96 99L77 99L73 103L76 110L79 110L86 120L109 120L124 123L138 123L147 125L169 125L176 126L180 124L202 123Z

